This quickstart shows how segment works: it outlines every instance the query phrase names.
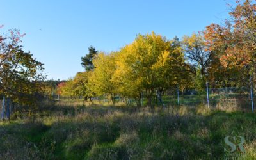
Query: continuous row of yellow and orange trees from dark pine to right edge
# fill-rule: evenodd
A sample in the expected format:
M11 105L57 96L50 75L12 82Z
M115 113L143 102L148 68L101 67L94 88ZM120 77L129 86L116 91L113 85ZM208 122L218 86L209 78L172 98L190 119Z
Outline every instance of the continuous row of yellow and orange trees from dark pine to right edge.
M116 52L89 48L82 58L84 72L58 86L63 96L115 95L134 98L141 92L152 105L154 92L168 88L204 90L212 87L248 85L253 78L256 56L256 6L252 1L236 1L224 25L210 24L204 31L168 40L156 33L137 35L134 42Z

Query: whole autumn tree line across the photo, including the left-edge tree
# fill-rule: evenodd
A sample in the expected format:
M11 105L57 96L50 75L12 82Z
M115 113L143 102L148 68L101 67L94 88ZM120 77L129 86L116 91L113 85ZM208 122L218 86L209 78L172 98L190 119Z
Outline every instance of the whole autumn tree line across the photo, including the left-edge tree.
M0 35L0 96L33 105L45 93L84 100L107 95L113 102L119 95L140 104L144 92L152 106L156 90L161 99L164 90L177 86L204 90L206 81L212 87L248 85L255 75L256 5L236 3L225 24L210 24L182 40L152 32L108 54L89 47L81 63L85 71L67 81L45 81L44 64L22 50L24 35L10 30Z

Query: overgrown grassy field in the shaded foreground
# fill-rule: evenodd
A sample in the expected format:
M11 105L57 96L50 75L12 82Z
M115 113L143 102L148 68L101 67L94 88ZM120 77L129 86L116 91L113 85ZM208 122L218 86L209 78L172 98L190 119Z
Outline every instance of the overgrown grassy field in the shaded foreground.
M56 103L0 122L0 159L223 159L226 136L256 159L253 113Z

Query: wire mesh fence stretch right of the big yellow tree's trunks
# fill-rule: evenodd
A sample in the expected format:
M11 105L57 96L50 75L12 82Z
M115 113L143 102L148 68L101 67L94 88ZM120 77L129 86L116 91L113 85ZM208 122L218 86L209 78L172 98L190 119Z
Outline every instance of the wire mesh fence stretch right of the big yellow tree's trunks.
M205 88L204 90L180 90L172 88L163 92L165 105L198 106L205 104L218 108L230 106L234 108L250 108L252 98L248 87ZM159 104L157 104L159 105Z

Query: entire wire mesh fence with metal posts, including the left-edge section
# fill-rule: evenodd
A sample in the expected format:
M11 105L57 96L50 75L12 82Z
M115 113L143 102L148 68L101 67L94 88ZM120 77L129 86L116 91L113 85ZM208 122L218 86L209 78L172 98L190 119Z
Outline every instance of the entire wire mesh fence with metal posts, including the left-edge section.
M63 97L60 95L45 95L47 100L56 100L60 102L90 102L92 104L125 104L129 106L198 106L204 104L211 108L254 108L255 99L253 99L253 88L250 86L243 87L230 87L227 85L221 85L220 88L214 88L205 85L204 89L188 89L180 90L177 88L168 88L165 90L154 90L150 94L141 92L141 96L138 99L122 97L121 95L115 95L114 99L111 99L108 95L102 95L99 97L86 97L72 96ZM5 100L6 101L6 100ZM3 103L3 97L0 98L0 115L1 118L7 118L7 104ZM15 108L19 105L10 102L9 111L15 111Z

